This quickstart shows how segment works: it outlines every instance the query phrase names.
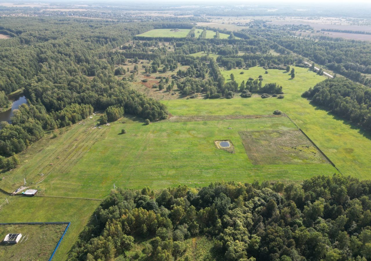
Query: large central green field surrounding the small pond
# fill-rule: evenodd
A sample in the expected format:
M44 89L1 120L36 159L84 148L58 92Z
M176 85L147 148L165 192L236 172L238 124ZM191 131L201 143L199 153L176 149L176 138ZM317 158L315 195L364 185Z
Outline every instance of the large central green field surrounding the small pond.
M315 174L336 172L330 164L254 165L250 162L239 131L296 130L287 117L165 120L150 125L144 125L136 118L125 117L121 121L125 123L119 120L102 129L90 130L85 142L79 143L89 144L86 151L76 146L82 137L76 138L77 141L73 139L85 135L85 132L67 132L66 136L76 132L69 138L71 143L64 137L60 138L65 141L63 148L70 149L59 153L50 151L54 159L42 157L42 154L29 158L22 167L9 173L1 184L6 185L6 180L22 181L22 170L37 173L39 166L45 166L42 171L50 174L37 184L44 195L102 198L108 195L114 183L135 189L177 184L195 187L218 180L302 180ZM127 133L119 135L122 128ZM91 144L93 139L95 142ZM233 142L236 153L216 149L214 140L224 139ZM58 141L55 143L55 148L59 148ZM81 151L85 153L80 157ZM56 159L56 155L60 158ZM57 163L49 166L50 160ZM37 183L42 178L29 175L28 182Z

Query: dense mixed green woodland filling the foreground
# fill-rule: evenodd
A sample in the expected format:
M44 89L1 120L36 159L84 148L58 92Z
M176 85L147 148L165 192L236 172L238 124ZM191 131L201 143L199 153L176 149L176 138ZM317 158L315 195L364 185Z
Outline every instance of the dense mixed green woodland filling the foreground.
M184 239L198 235L214 242L207 260L366 261L370 208L371 182L341 175L302 184L118 189L96 209L69 261L131 260L125 252L142 241L135 260L183 260Z

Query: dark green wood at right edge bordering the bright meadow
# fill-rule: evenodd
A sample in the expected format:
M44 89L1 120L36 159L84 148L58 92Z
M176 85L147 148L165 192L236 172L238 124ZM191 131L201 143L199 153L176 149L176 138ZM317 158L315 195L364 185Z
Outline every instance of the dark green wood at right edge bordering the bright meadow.
M304 97L351 121L371 130L371 89L337 77L319 82L303 93Z

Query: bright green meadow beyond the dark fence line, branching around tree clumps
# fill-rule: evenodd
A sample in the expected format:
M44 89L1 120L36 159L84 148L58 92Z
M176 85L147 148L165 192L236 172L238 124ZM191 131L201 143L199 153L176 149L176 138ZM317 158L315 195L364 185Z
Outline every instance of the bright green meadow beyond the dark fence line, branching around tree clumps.
M167 105L173 115L264 115L274 110L281 110L313 140L313 142L335 163L336 167L346 175L360 179L370 179L371 167L371 137L353 126L317 108L301 97L301 94L313 87L325 76L319 76L306 68L295 68L295 78L285 71L269 69L268 74L261 67L249 70L233 69L221 71L226 81L233 73L240 84L249 77L256 79L263 76L263 85L276 82L282 85L284 99L260 97L240 98L239 94L233 99L189 99L161 101ZM244 72L244 74L240 74Z

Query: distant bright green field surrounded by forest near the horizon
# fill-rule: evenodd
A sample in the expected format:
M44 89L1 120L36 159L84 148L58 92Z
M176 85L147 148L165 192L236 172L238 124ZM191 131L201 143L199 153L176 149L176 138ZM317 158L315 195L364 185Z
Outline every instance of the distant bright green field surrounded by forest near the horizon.
M136 36L144 36L144 37L154 37L154 38L158 38L158 37L175 37L175 38L184 38L187 36L188 32L190 31L191 29L179 29L177 31L171 31L171 29L153 29L153 30L150 30L148 32L145 32L145 33L141 33L140 35L136 35ZM197 38L198 36L201 35L202 33L202 29L196 29L195 30L195 37ZM206 38L208 39L212 39L214 38L216 32L214 31L211 31L211 30L207 30L206 31ZM219 37L220 39L228 39L229 35L225 34L225 33L219 33ZM237 39L239 39L238 37L236 37Z

